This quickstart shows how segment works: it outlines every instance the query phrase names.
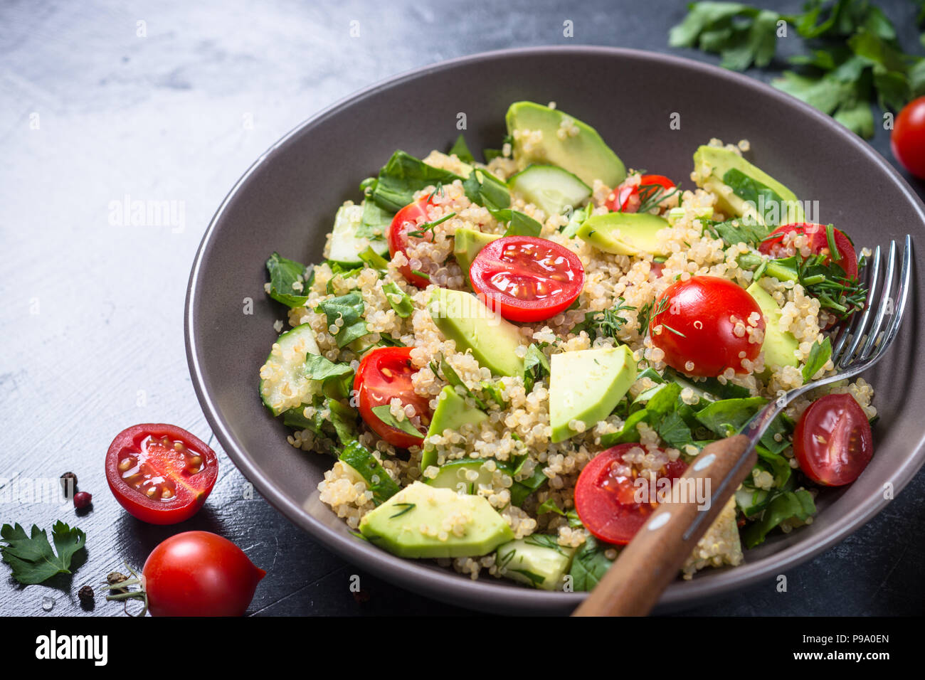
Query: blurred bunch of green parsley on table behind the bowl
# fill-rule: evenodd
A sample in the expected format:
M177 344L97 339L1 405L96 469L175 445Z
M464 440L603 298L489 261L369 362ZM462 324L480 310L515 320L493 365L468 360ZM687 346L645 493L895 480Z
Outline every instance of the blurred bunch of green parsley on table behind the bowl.
M918 3L921 24L925 2ZM718 53L723 67L745 70L771 64L777 38L791 30L809 41L810 51L792 56L797 70L772 84L862 137L873 135L873 100L898 110L925 94L925 58L903 51L893 23L869 0L809 0L793 15L731 2L692 3L669 42Z

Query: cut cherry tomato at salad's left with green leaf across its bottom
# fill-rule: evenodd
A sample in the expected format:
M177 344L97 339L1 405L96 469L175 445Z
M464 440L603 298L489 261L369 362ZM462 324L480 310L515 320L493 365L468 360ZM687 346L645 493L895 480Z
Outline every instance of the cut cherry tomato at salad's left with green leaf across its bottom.
M417 372L411 363L410 347L377 347L370 350L360 362L353 378L357 393L357 406L366 425L392 446L407 449L424 443L424 434L430 424L430 403L414 391L411 377ZM404 406L411 405L424 428L419 437L387 425L373 413L376 406L388 405L398 398ZM421 430L421 427L413 426Z

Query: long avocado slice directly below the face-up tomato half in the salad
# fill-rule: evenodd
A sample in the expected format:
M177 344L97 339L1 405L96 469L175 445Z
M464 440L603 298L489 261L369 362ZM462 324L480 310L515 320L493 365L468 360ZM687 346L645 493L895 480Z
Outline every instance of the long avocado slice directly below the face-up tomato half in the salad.
M496 376L523 376L524 360L517 356L520 330L466 291L438 288L427 304L434 324L462 352L472 350L475 360Z

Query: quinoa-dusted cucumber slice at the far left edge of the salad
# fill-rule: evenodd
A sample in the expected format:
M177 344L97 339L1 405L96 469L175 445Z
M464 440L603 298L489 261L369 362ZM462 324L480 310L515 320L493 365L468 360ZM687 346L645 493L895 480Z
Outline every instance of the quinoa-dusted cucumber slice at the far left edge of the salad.
M260 367L260 398L271 414L311 403L321 391L321 381L305 377L305 357L320 354L314 330L302 324L288 330L273 343L273 349Z

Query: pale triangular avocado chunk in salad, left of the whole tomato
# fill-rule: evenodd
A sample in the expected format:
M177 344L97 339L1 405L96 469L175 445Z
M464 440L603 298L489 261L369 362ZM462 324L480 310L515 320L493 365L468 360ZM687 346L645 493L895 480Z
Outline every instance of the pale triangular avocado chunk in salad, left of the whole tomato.
M636 377L633 351L625 345L553 354L549 368L553 442L576 434L573 420L589 429L610 415Z

